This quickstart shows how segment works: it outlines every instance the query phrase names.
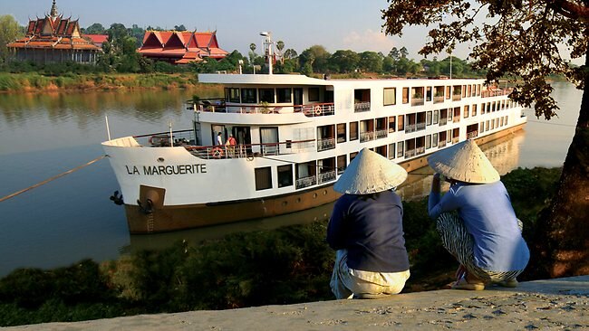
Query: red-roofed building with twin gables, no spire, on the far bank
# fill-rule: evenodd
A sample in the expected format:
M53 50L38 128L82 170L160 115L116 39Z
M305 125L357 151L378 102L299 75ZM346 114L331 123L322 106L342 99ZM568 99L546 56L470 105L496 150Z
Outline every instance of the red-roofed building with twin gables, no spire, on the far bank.
M206 58L221 60L228 54L218 46L217 32L147 31L141 55L154 61L186 64Z

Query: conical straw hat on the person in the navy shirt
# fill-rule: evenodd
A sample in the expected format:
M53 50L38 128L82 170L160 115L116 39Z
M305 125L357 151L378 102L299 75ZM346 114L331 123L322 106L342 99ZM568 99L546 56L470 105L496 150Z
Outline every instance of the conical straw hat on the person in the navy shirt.
M373 194L399 186L407 178L407 171L386 157L362 148L333 190L343 194Z

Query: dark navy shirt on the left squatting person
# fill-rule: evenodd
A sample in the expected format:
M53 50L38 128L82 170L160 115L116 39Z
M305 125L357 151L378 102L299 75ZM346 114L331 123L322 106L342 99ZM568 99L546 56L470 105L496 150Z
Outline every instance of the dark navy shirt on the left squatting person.
M402 214L401 198L392 191L374 199L343 194L333 206L327 242L333 250L348 251L347 264L353 270L409 270Z

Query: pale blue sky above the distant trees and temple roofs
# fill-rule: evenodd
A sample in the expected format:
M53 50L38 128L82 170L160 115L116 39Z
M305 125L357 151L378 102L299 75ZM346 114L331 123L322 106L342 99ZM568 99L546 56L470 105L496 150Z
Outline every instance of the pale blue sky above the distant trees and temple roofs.
M53 0L0 0L0 14L12 14L19 24L29 18L49 13ZM426 28L406 29L401 38L381 33L381 10L386 0L56 0L58 12L79 19L82 27L113 23L126 27L137 24L173 29L184 24L188 30L215 31L222 49L246 55L249 44L256 52L263 48L264 37L283 41L285 49L301 53L313 45L328 52L383 52L392 47L406 47L411 59L422 58L417 52L426 42ZM466 48L454 53L465 59ZM446 57L440 54L439 58Z

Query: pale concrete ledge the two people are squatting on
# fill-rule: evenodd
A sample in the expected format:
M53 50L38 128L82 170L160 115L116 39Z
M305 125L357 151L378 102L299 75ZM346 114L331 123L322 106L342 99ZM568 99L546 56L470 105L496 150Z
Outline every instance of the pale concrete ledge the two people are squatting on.
M376 326L376 327L374 327ZM359 330L589 329L589 276L484 291L443 289L372 300L140 315L8 329L34 330Z

